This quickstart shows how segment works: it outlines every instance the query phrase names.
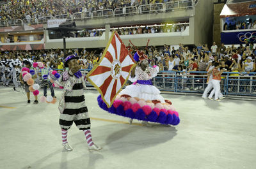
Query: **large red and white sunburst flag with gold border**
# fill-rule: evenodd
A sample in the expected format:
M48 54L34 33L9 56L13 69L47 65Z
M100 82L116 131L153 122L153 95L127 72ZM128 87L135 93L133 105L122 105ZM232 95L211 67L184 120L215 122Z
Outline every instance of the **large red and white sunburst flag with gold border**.
M108 107L124 87L132 68L136 66L132 55L114 32L108 41L99 64L87 75L88 81L100 92Z

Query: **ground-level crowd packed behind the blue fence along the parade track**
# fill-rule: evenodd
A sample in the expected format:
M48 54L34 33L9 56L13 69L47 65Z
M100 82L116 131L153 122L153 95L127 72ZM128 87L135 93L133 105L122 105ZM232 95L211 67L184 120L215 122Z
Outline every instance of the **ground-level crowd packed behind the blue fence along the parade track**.
M150 66L157 64L162 71L207 71L210 62L219 62L221 69L233 72L250 73L255 71L256 47L253 43L246 43L235 47L217 47L215 42L209 48L207 45L198 45L198 47L189 48L179 44L179 48L164 45L164 47L132 47L127 45L131 54L136 50L142 50L148 55ZM80 57L81 69L92 69L99 61L103 49L86 51L69 50ZM32 51L3 51L0 54L0 60L4 59L33 59L33 61L46 61L51 68L63 68L61 64L63 51L58 50L32 50ZM61 64L62 65L62 64Z

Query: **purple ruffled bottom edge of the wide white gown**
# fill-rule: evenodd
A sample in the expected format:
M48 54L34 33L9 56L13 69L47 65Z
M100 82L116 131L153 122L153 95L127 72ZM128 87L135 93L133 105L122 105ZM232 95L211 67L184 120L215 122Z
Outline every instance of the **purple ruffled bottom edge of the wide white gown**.
M176 126L180 123L179 117L177 117L175 114L166 115L164 112L160 112L159 115L157 115L157 113L154 112L154 110L152 110L150 114L146 115L142 108L139 108L134 113L131 108L124 110L124 107L122 105L119 105L117 108L115 108L112 105L110 108L108 108L106 103L102 101L100 95L98 96L97 101L100 108L108 111L111 114L121 115L123 117L129 117L131 119L137 119L140 121L159 122L161 124L172 124L173 126Z

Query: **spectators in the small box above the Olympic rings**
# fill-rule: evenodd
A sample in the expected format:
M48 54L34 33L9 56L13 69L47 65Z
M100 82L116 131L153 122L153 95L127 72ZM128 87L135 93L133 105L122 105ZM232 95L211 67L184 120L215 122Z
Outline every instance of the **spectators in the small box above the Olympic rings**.
M232 24L231 22L228 24L225 22L223 26L223 31L228 31L228 30L239 30L239 29L256 29L256 20L252 22L252 18L248 20L248 22L234 22Z

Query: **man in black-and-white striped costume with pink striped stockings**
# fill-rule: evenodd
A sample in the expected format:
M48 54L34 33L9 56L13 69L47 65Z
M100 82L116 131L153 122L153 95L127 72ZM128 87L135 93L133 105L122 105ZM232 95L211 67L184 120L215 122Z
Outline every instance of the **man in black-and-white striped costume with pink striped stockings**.
M79 71L78 57L74 54L67 54L66 56L65 67L68 67L68 71L63 72L58 81L56 81L63 86L59 105L63 147L67 151L72 151L72 147L67 142L67 133L73 122L75 122L77 128L84 132L89 151L99 151L102 147L97 146L92 141L91 122L83 95L85 77Z

